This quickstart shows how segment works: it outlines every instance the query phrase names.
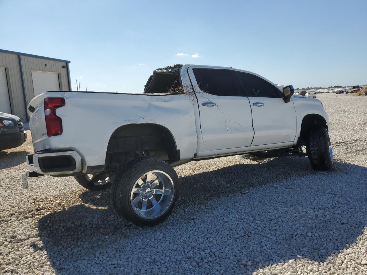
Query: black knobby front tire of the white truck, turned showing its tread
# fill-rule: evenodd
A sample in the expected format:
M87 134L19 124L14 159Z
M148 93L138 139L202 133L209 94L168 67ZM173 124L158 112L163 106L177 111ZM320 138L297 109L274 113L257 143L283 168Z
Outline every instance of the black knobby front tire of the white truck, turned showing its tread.
M333 169L333 159L329 152L329 135L326 128L310 130L306 151L314 170L330 171Z

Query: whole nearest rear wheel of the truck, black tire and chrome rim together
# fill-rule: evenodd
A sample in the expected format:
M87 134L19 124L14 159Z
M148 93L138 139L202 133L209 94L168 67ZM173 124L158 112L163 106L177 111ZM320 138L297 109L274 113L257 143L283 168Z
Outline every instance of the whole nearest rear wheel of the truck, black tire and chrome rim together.
M167 162L143 158L113 179L112 202L116 212L138 225L165 220L179 197L176 171Z

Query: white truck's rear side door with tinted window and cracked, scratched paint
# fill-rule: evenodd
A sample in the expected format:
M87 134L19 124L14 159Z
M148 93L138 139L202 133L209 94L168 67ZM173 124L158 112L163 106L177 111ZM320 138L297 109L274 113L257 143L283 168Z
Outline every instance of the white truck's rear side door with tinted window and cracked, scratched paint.
M207 150L250 146L251 107L233 70L189 67L200 111L200 128Z

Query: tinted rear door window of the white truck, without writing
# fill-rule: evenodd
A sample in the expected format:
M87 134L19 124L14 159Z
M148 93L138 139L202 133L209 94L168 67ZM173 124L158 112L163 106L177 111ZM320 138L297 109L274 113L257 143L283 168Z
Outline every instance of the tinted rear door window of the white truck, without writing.
M211 95L238 96L231 71L218 69L193 69L201 91Z

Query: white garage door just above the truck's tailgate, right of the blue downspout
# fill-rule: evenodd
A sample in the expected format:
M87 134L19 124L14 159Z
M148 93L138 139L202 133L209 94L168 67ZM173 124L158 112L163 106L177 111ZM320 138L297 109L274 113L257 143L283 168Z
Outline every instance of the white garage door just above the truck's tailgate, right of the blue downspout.
M60 91L59 74L32 70L34 96L47 91Z

